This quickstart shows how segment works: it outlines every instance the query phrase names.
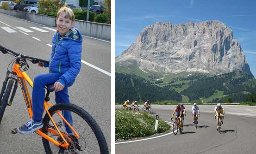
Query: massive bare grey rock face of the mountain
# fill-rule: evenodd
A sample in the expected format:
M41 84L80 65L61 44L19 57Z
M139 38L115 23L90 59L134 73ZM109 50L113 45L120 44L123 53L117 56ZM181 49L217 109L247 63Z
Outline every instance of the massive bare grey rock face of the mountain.
M232 30L220 21L147 26L116 59L116 66L136 65L163 74L198 71L224 74L244 71L252 76Z

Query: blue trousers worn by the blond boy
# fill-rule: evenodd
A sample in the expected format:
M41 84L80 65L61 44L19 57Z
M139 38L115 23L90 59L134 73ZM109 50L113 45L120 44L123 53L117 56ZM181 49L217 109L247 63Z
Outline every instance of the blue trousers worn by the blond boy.
M39 121L42 120L42 116L44 113L44 97L45 97L45 86L47 84L54 84L62 74L59 73L45 73L38 74L34 78L34 87L32 92L32 111L33 111L33 119ZM69 102L69 91L68 88L74 82L68 83L62 91L55 92L55 101L56 103L70 103ZM73 119L70 111L62 112L64 118L69 122L69 124L73 125ZM72 130L68 125L64 123L66 127L66 131L71 133Z

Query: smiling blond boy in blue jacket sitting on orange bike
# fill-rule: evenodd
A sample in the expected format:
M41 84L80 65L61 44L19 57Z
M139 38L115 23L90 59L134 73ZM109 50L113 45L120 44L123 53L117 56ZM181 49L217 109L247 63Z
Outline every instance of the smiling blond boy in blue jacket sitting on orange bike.
M32 92L33 117L18 128L21 134L31 134L43 127L44 87L54 84L56 103L70 103L68 88L75 82L81 68L82 36L74 26L75 15L69 7L59 9L56 17L57 30L52 39L50 64L39 63L40 67L49 67L49 73L38 74L34 78ZM62 113L72 125L71 113ZM67 133L72 130L64 124Z

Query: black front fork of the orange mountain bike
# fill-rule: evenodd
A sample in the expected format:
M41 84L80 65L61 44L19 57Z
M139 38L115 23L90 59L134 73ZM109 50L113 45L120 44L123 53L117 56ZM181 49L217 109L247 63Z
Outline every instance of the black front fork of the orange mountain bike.
M14 79L15 84L14 84L14 88L12 90L12 95L11 95L10 101L7 105L8 106L12 105L12 101L13 101L14 95L16 93L18 83L19 83L18 79L17 79L17 74L12 72L12 71L7 71L6 72L6 78L5 78L5 81L3 82L3 86L2 86L2 89L1 89L1 93L0 93L0 104L2 103L3 95L4 95L5 90L6 90L6 84L8 83L8 80L11 79L11 78Z

